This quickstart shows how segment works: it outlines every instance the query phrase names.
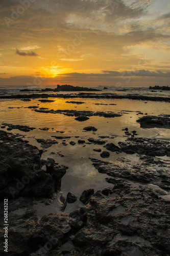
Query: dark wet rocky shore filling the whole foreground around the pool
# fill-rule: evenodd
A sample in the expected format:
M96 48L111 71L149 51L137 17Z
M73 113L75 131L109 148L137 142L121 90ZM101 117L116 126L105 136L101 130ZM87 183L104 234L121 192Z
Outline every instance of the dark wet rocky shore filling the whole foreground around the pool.
M168 155L169 142L131 137L119 146L106 144L108 153L131 154L133 150L140 154L138 161L119 157L111 163L90 158L99 173L108 175L109 186L95 193L89 188L80 198L68 193L65 199L60 189L66 166L52 158L41 159L42 150L4 131L0 140L0 215L3 219L3 200L8 198L9 255L170 255L170 161L148 153ZM76 201L84 206L65 213L66 203ZM0 234L3 248L3 228Z

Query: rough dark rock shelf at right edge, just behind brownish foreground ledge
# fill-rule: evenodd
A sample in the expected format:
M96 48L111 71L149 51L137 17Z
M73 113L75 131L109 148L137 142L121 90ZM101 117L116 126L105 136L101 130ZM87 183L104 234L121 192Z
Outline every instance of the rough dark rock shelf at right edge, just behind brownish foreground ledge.
M118 144L120 150L127 154L170 156L170 143L164 140L131 137L125 142L118 142Z

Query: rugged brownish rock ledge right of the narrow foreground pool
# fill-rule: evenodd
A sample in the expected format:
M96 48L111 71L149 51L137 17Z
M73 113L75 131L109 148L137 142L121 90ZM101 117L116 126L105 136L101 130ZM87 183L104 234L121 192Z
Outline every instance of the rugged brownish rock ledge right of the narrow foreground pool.
M114 178L126 178L143 184L152 183L163 189L170 189L170 175L167 172L169 163L159 158L142 156L137 162L117 158L114 163L94 158L90 158L90 160L99 173L105 173ZM116 183L116 179L114 182Z

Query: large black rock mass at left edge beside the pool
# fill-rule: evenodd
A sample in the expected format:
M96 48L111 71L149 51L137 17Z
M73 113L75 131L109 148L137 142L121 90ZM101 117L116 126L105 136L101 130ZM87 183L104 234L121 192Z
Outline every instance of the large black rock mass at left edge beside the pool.
M1 200L18 196L51 197L60 190L66 167L57 166L53 160L54 172L49 169L45 172L41 169L42 151L36 146L20 138L13 139L2 131L0 139Z

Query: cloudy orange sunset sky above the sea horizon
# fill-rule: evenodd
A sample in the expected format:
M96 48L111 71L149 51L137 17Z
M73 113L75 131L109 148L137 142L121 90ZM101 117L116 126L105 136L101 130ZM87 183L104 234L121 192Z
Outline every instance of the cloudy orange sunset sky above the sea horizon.
M170 86L169 0L0 0L0 86Z

